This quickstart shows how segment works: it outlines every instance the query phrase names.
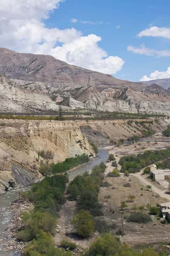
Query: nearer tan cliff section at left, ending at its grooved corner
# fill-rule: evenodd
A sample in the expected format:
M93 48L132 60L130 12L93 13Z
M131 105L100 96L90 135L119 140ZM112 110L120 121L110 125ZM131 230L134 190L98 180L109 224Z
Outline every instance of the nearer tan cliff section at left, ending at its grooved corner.
M41 177L38 151L51 151L57 163L79 154L94 155L76 122L0 120L0 192L10 180L21 185ZM39 159L39 160L38 160Z

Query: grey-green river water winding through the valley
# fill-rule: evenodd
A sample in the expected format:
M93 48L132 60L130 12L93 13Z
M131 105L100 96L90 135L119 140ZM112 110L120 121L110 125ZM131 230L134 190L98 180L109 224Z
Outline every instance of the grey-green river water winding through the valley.
M70 179L74 179L79 174L91 171L91 169L98 165L100 162L106 162L108 159L108 152L104 149L99 149L98 157L90 160L89 163L75 168L73 171L68 172ZM11 202L17 198L17 191L13 190L6 194L0 195L0 239L3 239L6 227L12 220ZM10 239L10 238L9 238ZM16 253L4 252L0 248L0 256L18 256Z

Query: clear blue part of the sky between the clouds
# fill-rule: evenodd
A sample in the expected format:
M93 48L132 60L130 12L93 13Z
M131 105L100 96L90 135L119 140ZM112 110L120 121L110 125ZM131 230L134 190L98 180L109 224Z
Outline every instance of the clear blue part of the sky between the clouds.
M103 24L71 23L72 18ZM110 24L108 24L110 23ZM75 27L83 35L94 33L102 37L99 46L108 55L118 55L125 60L122 70L116 77L139 81L144 75L155 70L164 71L170 65L170 57L156 57L134 54L127 51L128 45L140 47L145 44L151 49L170 49L170 39L138 38L136 35L149 26L170 28L169 0L66 0L54 11L48 26L60 29ZM120 26L119 29L116 29Z

